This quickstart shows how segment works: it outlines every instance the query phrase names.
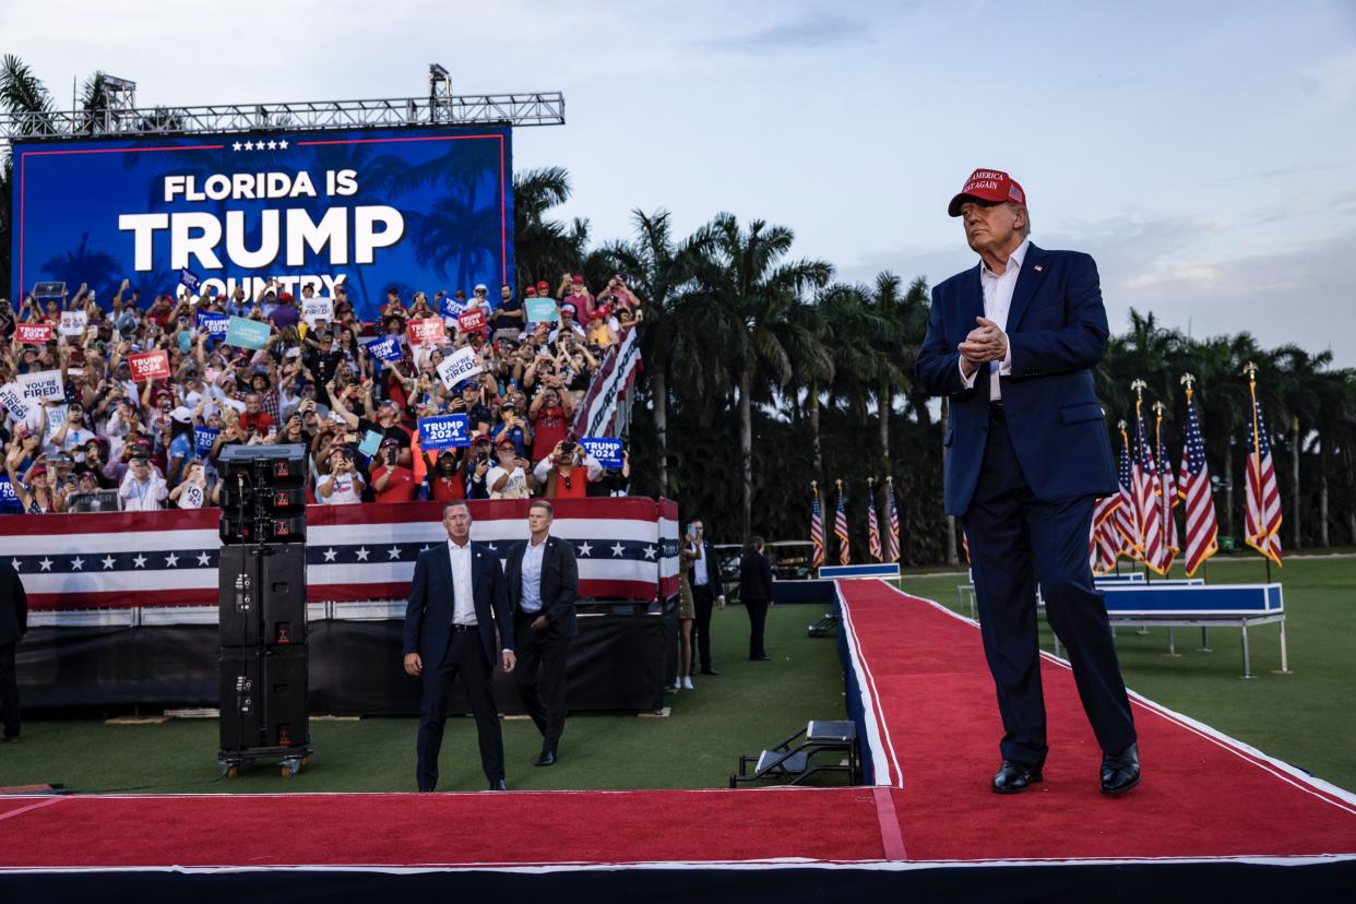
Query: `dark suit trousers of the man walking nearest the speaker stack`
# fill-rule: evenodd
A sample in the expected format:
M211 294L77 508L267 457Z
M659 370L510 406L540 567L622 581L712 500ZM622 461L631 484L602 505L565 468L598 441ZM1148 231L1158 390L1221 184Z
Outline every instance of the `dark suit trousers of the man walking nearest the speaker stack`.
M495 705L494 665L485 659L480 633L453 632L447 651L437 668L426 668L423 699L419 705L419 766L416 779L420 792L438 786L438 751L442 749L442 729L447 721L447 697L452 683L461 678L476 718L480 740L480 766L490 782L504 777L504 741L499 729L499 707Z

